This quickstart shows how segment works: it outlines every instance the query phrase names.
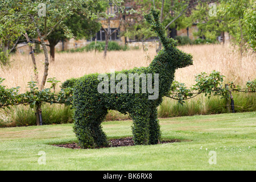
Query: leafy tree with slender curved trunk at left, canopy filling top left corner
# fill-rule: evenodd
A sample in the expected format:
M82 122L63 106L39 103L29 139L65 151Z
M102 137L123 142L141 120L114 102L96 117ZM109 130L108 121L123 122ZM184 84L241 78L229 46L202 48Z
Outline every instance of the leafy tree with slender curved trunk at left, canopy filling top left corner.
M108 17L105 12L97 9L98 3L104 1L80 1L80 0L5 0L0 3L1 31L0 38L6 44L17 38L26 31L30 31L31 35L35 35L40 39L40 43L44 52L44 74L39 90L44 89L47 81L49 57L45 40L51 35L56 28L64 31L67 38L72 37L63 21L65 18L71 17L79 11L86 19L97 19L98 17ZM121 4L116 0L113 3ZM4 28L4 31L2 30ZM7 39L7 35L10 35ZM39 118L41 110L41 102L36 102L36 117ZM38 115L39 114L39 115Z

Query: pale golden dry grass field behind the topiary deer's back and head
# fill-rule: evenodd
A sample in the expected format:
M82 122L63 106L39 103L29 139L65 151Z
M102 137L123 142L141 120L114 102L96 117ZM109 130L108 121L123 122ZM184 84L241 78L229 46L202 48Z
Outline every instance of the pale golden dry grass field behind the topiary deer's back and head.
M210 73L213 70L221 72L230 81L245 84L256 77L256 54L248 52L240 57L239 52L232 47L221 45L199 45L179 47L184 52L191 53L193 65L176 71L175 80L191 86L194 84L194 76L201 73ZM156 55L155 48L149 48L147 52L142 50L110 51L103 59L103 52L77 52L56 53L55 63L49 64L48 78L56 77L61 82L71 77L81 77L88 73L105 73L131 69L134 67L147 67ZM39 72L39 80L42 79L44 69L44 55L36 55L36 65ZM6 78L8 88L21 86L24 92L27 82L34 76L32 60L29 55L11 56L10 68L0 68L0 77ZM41 80L40 80L41 81ZM49 84L46 85L48 87Z

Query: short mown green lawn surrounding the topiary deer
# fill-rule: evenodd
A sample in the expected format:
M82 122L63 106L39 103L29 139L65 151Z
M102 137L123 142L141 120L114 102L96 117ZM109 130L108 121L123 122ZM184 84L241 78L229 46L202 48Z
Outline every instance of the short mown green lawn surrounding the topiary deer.
M76 142L73 124L1 128L0 170L255 170L255 113L160 119L162 137L183 142L151 146L74 150L51 145ZM131 125L102 123L109 139L132 136Z

